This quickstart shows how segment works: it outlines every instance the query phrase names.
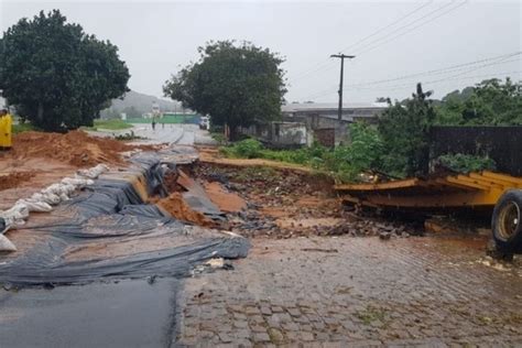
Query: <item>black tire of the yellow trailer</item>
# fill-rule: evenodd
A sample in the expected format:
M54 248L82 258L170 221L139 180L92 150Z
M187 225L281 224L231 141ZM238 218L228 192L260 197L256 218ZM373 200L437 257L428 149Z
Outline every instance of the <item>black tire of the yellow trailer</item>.
M507 191L493 209L491 230L497 249L507 253L522 252L522 189Z

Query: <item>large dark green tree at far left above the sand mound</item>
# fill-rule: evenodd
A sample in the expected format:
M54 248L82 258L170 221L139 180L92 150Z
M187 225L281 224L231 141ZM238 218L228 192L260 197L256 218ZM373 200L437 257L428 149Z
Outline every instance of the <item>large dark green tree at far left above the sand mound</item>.
M91 126L128 91L118 47L87 35L54 10L22 19L0 39L0 89L35 126L52 131Z

